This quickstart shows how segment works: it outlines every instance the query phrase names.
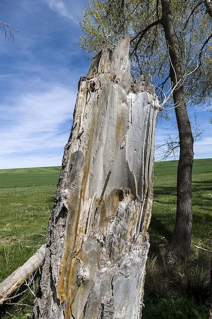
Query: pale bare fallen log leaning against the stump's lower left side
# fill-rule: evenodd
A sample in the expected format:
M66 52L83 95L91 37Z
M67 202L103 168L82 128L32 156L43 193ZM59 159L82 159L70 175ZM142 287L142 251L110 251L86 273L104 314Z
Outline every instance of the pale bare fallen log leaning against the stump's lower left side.
M24 283L26 279L41 267L45 256L46 245L29 258L21 267L0 283L0 304L10 299L10 296Z

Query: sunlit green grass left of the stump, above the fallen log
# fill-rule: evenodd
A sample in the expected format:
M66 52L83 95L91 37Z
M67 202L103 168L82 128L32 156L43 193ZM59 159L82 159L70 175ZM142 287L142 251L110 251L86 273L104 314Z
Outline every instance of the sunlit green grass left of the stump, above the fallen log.
M59 170L0 170L1 281L45 242Z

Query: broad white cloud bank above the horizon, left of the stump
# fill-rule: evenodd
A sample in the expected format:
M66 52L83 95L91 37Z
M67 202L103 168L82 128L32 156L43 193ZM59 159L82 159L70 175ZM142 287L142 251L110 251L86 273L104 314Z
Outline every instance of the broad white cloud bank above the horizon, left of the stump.
M0 167L60 165L75 100L76 92L55 85L0 105Z

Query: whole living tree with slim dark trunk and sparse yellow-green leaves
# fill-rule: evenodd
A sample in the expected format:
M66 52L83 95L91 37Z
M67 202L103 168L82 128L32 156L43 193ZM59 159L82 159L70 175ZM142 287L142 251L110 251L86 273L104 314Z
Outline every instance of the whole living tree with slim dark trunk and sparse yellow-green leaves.
M175 260L187 260L191 247L193 136L186 100L198 103L209 94L206 66L211 36L205 6L211 13L209 1L94 0L81 20L83 49L95 51L102 41L112 47L128 33L133 74L153 74L162 105L169 96L164 91L168 87L173 91L169 105L176 114L180 147L176 222L169 246L169 258Z

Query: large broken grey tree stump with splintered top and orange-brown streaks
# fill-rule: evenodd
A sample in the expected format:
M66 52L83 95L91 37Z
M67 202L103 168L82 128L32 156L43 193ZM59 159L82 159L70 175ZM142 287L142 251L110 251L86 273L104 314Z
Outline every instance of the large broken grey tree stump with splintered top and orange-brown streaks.
M159 109L130 75L130 38L79 82L49 221L35 318L140 318Z

